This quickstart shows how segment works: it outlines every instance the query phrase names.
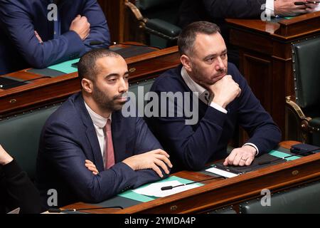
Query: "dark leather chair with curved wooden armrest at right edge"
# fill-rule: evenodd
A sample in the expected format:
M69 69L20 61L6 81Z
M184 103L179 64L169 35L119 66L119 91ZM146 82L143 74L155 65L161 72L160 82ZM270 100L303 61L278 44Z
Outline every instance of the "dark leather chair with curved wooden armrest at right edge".
M286 98L286 140L320 146L320 36L292 43L295 98Z

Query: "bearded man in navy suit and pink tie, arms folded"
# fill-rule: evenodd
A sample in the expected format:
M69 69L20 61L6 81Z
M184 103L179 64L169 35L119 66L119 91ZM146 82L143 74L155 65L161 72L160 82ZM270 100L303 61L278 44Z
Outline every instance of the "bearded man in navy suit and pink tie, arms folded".
M41 134L36 183L44 208L52 206L50 189L58 192L58 207L101 202L166 177L172 166L144 120L122 115L129 74L124 58L95 49L80 58L78 73L82 92L48 118Z

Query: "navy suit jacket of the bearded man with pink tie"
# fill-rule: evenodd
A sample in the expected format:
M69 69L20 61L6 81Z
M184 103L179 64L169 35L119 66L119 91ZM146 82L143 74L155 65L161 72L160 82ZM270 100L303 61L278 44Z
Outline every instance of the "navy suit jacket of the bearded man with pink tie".
M123 190L154 182L153 170L132 170L122 160L162 148L142 118L124 118L112 113L112 140L116 164L104 171L97 133L81 93L72 95L43 127L38 151L36 184L44 209L47 192L58 191L58 207L76 201L101 202ZM85 167L91 160L99 170L93 175ZM165 173L164 173L164 176Z

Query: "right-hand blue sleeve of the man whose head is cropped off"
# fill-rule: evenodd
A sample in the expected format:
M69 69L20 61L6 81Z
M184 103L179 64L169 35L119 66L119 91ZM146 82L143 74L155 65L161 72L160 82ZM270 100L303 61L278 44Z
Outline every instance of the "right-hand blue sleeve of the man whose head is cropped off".
M97 4L96 0L85 1L85 8L82 11L82 16L86 16L90 23L90 36L85 43L85 51L90 51L94 48L107 48L110 46L110 32L105 19L105 14ZM90 46L91 41L98 41L103 44Z

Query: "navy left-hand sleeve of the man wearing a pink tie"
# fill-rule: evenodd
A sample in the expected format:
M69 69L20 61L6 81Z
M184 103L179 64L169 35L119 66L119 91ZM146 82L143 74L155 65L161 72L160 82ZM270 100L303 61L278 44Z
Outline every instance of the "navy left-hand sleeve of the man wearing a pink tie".
M123 162L93 175L85 167L87 157L78 138L78 131L70 130L67 124L52 123L43 132L42 153L82 201L101 202L137 185L137 172Z

